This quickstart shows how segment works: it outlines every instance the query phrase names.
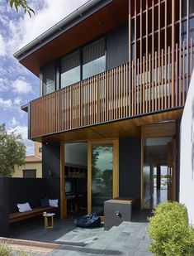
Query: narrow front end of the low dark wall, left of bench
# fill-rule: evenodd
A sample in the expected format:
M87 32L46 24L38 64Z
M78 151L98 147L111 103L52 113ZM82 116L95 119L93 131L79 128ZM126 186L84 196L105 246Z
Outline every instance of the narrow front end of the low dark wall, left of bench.
M0 236L9 236L9 179L0 178Z

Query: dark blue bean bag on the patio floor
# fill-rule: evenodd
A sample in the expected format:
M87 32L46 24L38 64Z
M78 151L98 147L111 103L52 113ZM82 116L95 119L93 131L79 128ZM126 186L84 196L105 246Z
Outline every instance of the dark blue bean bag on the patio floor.
M93 229L101 225L101 218L96 213L92 215L84 215L74 221L74 224L79 228Z

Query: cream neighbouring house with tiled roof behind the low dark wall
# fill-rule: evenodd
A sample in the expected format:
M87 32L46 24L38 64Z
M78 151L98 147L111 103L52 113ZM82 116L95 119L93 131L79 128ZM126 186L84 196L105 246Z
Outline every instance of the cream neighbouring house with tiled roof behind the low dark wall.
M35 155L27 156L25 165L16 169L13 178L41 178L42 177L42 145L35 142Z

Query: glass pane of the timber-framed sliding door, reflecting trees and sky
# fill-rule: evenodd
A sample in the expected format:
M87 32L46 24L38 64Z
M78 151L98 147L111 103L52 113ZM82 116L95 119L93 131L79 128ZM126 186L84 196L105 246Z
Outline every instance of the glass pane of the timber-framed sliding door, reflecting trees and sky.
M92 212L103 215L104 201L112 198L113 145L92 145Z

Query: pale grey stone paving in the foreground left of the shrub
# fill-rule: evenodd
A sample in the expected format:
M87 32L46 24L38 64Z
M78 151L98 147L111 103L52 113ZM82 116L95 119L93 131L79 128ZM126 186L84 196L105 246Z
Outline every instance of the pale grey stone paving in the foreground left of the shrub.
M123 222L109 231L103 229L77 229L58 239L61 246L51 256L125 255L149 256L146 233L147 223Z

